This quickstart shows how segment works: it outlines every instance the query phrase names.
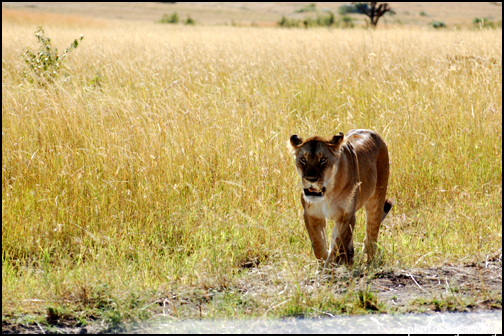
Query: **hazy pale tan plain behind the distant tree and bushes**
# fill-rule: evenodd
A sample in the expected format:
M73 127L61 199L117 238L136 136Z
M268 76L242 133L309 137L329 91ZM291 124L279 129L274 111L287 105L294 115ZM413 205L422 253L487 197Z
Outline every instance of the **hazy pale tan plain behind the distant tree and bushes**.
M302 10L313 8L315 11ZM2 2L2 8L30 12L78 14L103 19L158 21L163 14L177 12L181 20L191 17L197 24L274 26L282 16L304 19L331 11L350 2ZM395 15L385 15L379 26L427 26L443 21L448 26L470 27L475 18L502 23L501 2L389 2ZM310 6L311 5L311 6ZM361 14L348 14L364 24Z

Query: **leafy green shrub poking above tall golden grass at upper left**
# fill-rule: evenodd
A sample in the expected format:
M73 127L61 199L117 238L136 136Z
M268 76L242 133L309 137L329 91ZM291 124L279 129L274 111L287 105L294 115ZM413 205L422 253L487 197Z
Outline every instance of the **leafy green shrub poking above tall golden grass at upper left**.
M84 38L83 35L79 39L75 39L63 54L58 54L58 48L52 48L51 39L44 36L45 32L42 26L39 26L34 35L40 43L38 52L34 52L29 46L26 46L19 57L24 59L28 66L28 71L23 71L23 76L27 77L28 72L35 75L39 83L42 81L54 82L61 69L61 64L65 60L69 52L79 46L79 41ZM68 75L68 74L67 74Z

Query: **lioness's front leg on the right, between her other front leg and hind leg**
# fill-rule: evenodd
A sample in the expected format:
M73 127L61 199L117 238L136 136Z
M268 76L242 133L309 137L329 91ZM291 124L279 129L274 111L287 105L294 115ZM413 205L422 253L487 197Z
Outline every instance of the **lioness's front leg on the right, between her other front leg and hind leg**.
M353 230L355 227L355 214L343 221L336 221L331 235L331 247L324 268L329 268L334 261L336 264L353 263Z

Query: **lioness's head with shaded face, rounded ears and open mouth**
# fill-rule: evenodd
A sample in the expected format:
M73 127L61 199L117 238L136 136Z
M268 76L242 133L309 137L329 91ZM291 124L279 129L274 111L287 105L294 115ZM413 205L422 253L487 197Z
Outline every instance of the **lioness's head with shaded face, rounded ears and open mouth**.
M335 174L342 132L328 138L312 137L303 141L296 134L290 137L290 148L296 159L296 168L301 176L305 198L321 200Z

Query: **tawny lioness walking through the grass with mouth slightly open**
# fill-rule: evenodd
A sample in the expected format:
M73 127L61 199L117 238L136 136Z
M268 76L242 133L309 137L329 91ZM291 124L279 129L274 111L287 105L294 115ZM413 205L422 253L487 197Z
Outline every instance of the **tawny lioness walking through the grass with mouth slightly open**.
M389 178L385 142L373 131L358 129L307 140L292 135L288 147L303 183L301 204L315 257L325 260L324 267L335 257L336 263L353 262L355 212L364 206L365 251L371 260L380 224L392 207L392 201L385 199ZM335 222L329 252L326 218Z

